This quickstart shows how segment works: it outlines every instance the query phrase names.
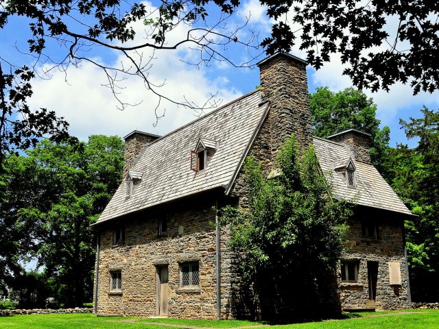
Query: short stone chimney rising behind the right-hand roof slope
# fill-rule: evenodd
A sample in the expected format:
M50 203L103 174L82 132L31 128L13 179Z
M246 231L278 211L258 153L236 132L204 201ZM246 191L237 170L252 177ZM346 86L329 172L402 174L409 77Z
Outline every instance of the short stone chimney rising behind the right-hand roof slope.
M370 134L356 129L349 129L328 136L328 139L329 141L344 144L344 147L355 160L370 163Z

